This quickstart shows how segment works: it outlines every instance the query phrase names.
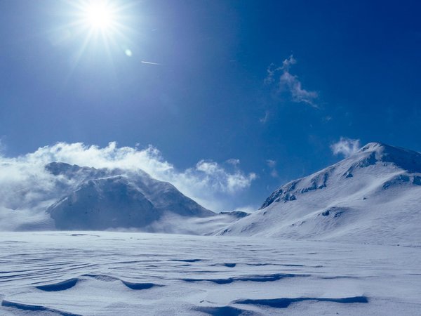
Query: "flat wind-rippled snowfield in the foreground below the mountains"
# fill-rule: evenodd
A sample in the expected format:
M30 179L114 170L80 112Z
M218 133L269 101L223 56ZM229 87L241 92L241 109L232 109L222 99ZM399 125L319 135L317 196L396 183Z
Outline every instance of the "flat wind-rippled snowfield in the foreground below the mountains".
M1 232L0 315L420 315L421 248Z

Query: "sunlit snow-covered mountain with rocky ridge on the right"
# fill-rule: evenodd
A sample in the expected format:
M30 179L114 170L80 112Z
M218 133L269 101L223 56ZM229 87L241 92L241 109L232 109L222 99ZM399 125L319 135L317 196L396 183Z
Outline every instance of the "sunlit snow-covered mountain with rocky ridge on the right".
M369 143L283 185L220 234L419 244L420 225L421 154Z

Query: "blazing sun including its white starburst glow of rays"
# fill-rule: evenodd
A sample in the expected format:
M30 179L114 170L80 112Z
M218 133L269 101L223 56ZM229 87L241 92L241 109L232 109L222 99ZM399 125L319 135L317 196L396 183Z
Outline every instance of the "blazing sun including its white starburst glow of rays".
M1 0L0 0L1 1ZM137 0L62 0L63 22L57 31L68 34L66 43L74 46L73 67L84 56L95 56L113 64L114 55L133 57L133 35L131 27L133 12L138 10ZM63 41L64 42L64 41Z

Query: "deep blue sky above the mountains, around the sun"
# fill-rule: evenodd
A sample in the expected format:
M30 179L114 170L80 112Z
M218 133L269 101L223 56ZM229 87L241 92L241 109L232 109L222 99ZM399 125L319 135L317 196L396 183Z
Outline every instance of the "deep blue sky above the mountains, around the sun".
M0 2L4 156L152 145L183 176L243 176L222 210L342 159L341 137L421 151L418 1L109 2L107 41L78 1Z

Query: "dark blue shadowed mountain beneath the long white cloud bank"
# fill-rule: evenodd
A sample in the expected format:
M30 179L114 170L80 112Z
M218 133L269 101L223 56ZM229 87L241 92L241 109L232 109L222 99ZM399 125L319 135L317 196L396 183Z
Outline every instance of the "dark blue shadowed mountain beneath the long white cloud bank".
M94 169L51 163L68 193L48 208L61 230L147 228L163 216L203 218L215 213L182 195L173 185L143 171Z

